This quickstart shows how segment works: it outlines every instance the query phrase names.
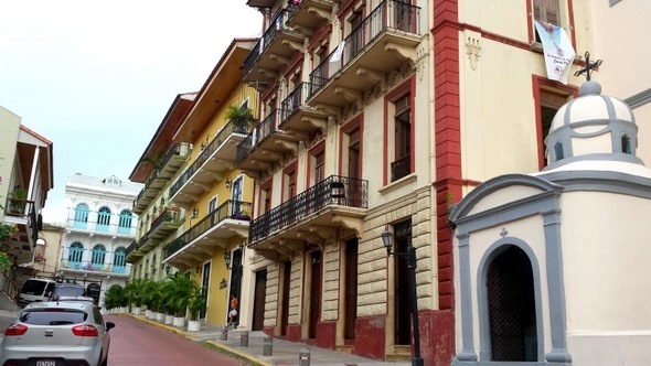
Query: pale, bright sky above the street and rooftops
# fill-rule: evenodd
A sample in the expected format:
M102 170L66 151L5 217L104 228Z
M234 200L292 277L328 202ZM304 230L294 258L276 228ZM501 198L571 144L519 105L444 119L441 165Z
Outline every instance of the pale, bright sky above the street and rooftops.
M73 174L128 181L175 96L260 33L246 0L0 2L0 106L53 142L44 222L65 219Z

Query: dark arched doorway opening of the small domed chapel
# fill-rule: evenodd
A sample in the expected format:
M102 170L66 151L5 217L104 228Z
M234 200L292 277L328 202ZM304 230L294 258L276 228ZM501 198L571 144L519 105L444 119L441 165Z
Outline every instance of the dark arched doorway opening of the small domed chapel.
M491 359L537 360L533 270L526 254L511 246L490 263L487 279Z

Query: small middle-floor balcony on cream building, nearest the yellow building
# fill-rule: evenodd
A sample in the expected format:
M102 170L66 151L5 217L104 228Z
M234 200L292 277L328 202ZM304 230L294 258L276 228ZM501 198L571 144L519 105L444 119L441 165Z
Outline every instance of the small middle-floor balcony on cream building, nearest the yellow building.
M249 176L266 171L280 161L287 152L298 152L299 137L278 129L281 109L274 109L254 130L237 146L235 166Z

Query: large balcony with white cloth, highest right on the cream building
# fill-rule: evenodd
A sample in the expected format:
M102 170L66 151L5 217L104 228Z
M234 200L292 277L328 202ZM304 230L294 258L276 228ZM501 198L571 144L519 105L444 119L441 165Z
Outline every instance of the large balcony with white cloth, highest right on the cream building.
M417 60L420 8L385 0L310 74L311 106L344 107L384 84L387 74Z

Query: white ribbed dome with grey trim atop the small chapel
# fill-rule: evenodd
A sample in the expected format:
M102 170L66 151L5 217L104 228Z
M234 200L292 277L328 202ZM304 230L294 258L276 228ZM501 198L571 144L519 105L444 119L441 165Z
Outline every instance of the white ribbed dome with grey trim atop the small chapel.
M638 127L633 112L626 103L601 95L597 82L581 85L579 97L558 109L545 146L551 169L577 160L641 163L636 158Z

